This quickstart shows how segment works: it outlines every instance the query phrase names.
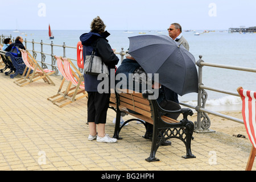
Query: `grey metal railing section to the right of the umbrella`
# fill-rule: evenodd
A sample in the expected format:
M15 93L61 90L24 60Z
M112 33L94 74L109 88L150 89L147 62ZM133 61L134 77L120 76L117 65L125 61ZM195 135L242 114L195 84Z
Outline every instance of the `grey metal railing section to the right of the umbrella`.
M211 86L204 85L203 84L203 67L204 66L216 67L216 68L232 69L232 70L237 70L237 71L253 72L253 73L256 73L256 69L255 68L246 68L246 67L236 67L236 66L232 66L232 65L205 63L202 60L202 57L203 56L200 55L199 56L200 59L196 62L196 65L199 67L199 86L198 86L199 91L198 91L198 95L197 95L197 106L192 106L192 105L189 105L189 104L185 104L183 102L180 103L181 105L191 107L191 108L193 108L197 111L197 121L195 122L195 124L196 124L195 125L195 131L197 131L199 133L200 132L203 132L203 133L210 132L210 129L209 129L209 127L210 127L210 118L208 117L207 113L243 124L242 119L234 118L234 117L231 117L229 115L225 115L225 114L221 114L221 113L217 113L217 112L205 109L205 103L207 102L207 96L208 96L208 94L205 90L211 90L213 92L229 94L229 95L237 96L237 97L240 97L240 96L237 92L232 92L232 91L229 91L229 90L224 90L224 89L221 89L221 88L214 88L214 87L211 87Z

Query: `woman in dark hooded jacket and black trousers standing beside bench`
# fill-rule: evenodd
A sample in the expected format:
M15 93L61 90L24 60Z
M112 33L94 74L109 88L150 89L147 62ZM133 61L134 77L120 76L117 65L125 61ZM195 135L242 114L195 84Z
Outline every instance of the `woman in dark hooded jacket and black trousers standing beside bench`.
M92 55L93 47L95 47L95 56L100 56L102 61L110 69L114 69L118 64L118 57L114 54L106 39L110 34L105 31L106 25L99 16L92 20L90 25L91 31L82 34L80 40L83 45L82 55L84 60L86 56ZM96 42L97 41L97 42ZM101 80L97 80L97 76L87 75L84 71L85 91L88 93L87 117L89 125L88 140L97 139L97 142L114 143L117 139L110 138L105 134L106 114L109 107L109 93L99 93L97 90ZM110 81L109 81L110 82ZM110 88L109 88L110 90Z

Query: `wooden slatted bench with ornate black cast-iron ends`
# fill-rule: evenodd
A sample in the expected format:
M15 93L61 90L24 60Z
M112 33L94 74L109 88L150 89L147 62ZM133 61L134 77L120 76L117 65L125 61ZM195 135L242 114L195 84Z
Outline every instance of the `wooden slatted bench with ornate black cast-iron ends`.
M184 142L187 154L183 158L195 158L191 152L191 139L193 135L194 124L188 121L188 115L193 115L191 109L183 108L177 111L168 111L162 109L156 100L148 100L150 91L142 93L112 93L110 96L110 108L116 111L115 131L113 138L122 139L119 133L123 126L130 121L145 121L154 125L152 136L152 145L149 158L147 162L159 161L155 158L156 151L162 142L170 138L177 138ZM131 113L129 110L135 111L139 114ZM137 119L129 119L120 126L121 113L133 115ZM175 119L166 117L167 113L181 113L183 119L177 121ZM140 120L141 119L141 120Z

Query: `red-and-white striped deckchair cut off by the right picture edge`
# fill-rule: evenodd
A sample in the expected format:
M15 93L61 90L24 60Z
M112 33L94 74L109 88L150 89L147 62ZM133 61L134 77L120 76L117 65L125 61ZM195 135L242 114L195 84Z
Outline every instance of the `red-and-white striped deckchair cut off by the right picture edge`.
M256 92L245 90L241 86L237 88L237 92L242 99L242 116L246 132L253 144L246 166L246 171L251 171L256 155Z

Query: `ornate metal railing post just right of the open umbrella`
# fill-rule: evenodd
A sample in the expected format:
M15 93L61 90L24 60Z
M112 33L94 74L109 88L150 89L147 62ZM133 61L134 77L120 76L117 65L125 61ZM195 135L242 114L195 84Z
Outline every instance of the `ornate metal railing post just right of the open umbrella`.
M208 94L204 89L201 89L201 85L203 85L203 66L201 65L203 56L199 56L199 60L196 62L196 65L199 67L198 70L198 94L197 94L197 121L195 122L195 132L197 133L211 133L214 132L213 130L210 130L210 118L208 115L204 112L202 112L200 109L205 107L205 103L207 101ZM201 121L201 118L203 118L203 121Z

